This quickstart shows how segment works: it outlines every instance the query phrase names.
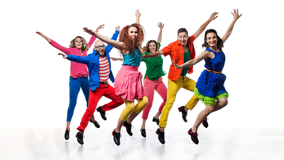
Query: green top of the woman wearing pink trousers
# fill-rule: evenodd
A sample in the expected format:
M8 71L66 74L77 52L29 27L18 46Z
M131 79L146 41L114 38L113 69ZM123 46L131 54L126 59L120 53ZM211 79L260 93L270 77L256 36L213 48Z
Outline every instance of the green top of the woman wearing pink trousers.
M160 47L161 44L158 42L158 47ZM145 52L144 54L147 55L151 52ZM146 64L146 73L144 76L147 76L151 81L156 81L160 76L166 75L166 72L163 71L163 58L161 56L158 57L152 57L152 58L144 58L141 59L141 62L145 62Z

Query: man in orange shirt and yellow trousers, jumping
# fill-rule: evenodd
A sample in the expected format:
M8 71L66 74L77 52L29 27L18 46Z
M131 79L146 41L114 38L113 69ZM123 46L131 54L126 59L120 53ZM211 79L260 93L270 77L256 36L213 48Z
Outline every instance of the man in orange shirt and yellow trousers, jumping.
M180 28L178 30L178 40L172 42L167 47L164 47L162 50L150 53L145 55L143 58L158 57L160 55L170 55L171 59L175 61L176 64L181 65L191 59L195 58L195 50L193 46L193 41L205 30L207 25L217 18L218 12L213 13L209 20L207 20L201 27L194 33L192 36L188 37L188 32L185 28ZM161 113L161 119L159 123L159 128L156 130L158 134L159 141L164 144L164 128L167 125L167 118L169 116L170 109L172 108L173 103L175 102L175 97L180 90L180 88L187 89L191 92L194 91L196 82L188 78L186 73L193 73L193 66L177 69L173 64L170 66L170 71L168 74L168 91L167 91L167 102L164 105L164 108ZM186 115L188 109L192 110L197 102L199 101L196 95L193 95L192 98L188 101L185 106L178 108L182 112L182 117L185 122L187 122ZM207 121L204 120L205 127ZM208 124L207 124L208 127ZM206 127L206 128L207 128Z

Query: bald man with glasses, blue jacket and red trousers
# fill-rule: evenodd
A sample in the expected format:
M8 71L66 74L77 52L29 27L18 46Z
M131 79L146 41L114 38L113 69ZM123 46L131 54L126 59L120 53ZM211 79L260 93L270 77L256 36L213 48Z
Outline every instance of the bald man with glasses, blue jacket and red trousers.
M120 26L115 28L115 33L112 38L116 41L118 34L120 32ZM97 111L100 112L101 118L106 120L105 112L117 108L118 106L123 104L122 99L120 97L115 97L114 87L108 84L108 79L114 82L114 76L111 71L111 64L109 59L109 52L113 47L111 45L104 45L104 42L98 40L95 42L95 47L93 49L93 53L89 54L85 57L75 56L75 55L66 55L64 53L59 53L58 55L62 55L63 58L67 58L67 60L86 64L89 70L89 78L90 78L90 94L89 94L89 103L88 108L86 109L80 126L77 128L79 132L77 133L77 141L81 145L84 144L83 141L83 133L85 128L88 125L88 122L94 123L97 128L99 128L99 124L96 121L91 120L91 116L96 110L96 106L101 99L102 96L111 99L112 101L102 105L97 108Z

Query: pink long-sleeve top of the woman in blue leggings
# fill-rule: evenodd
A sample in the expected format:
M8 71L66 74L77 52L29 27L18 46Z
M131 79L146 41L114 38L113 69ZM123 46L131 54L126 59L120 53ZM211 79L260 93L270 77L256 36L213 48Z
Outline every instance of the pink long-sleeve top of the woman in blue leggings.
M91 39L88 43L89 48L91 47L91 45L94 43L94 41L96 40L95 36L91 36ZM77 56L81 56L81 57L85 57L87 56L87 52L89 49L80 52L80 50L76 47L70 47L70 48L66 48L66 47L62 47L60 44L58 44L57 42L55 42L54 40L51 39L51 42L49 42L49 44L51 44L51 46L59 49L60 51L64 52L67 55L77 55ZM82 54L83 55L82 55ZM79 77L88 77L89 76L89 72L88 72L88 68L86 64L81 64L81 63L76 63L76 62L71 62L71 66L70 66L70 74L73 78L79 78Z

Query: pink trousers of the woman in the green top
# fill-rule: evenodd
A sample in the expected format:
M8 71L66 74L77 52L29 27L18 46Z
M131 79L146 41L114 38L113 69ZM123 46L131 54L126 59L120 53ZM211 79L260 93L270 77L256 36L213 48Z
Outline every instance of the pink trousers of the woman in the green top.
M144 79L143 86L148 96L148 105L143 110L142 118L148 119L148 115L153 104L154 90L156 90L156 92L163 99L163 102L159 107L159 111L162 112L162 109L167 102L167 87L163 82L162 76L159 77L156 81L151 81L150 79Z

